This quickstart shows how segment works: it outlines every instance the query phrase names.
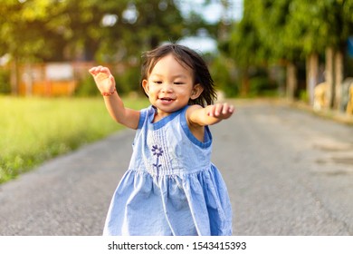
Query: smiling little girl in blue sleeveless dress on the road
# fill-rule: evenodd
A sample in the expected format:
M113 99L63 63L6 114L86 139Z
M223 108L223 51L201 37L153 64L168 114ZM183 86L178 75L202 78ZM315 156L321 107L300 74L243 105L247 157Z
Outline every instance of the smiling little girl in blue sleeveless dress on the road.
M234 107L213 105L215 87L203 59L178 44L143 55L141 84L151 105L125 108L106 67L90 70L111 117L137 130L129 170L110 203L104 235L232 235L232 210L210 161L208 125Z

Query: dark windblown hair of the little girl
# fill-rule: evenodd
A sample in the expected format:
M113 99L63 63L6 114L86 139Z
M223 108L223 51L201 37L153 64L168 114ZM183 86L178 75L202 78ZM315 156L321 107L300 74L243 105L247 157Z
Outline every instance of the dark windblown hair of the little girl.
M141 84L148 79L157 62L167 54L173 54L182 65L190 68L194 73L194 84L199 83L204 91L195 100L190 100L189 104L199 104L203 107L214 103L217 95L215 93L215 83L205 64L204 59L194 50L180 44L163 44L156 49L142 54Z

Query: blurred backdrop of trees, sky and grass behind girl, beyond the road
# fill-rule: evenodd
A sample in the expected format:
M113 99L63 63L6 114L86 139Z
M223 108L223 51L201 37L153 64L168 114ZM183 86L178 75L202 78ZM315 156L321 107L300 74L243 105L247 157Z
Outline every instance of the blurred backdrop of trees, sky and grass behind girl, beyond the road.
M2 0L0 38L0 182L116 130L88 133L106 115L88 69L141 106L140 55L159 44L203 54L225 97L353 113L353 0Z

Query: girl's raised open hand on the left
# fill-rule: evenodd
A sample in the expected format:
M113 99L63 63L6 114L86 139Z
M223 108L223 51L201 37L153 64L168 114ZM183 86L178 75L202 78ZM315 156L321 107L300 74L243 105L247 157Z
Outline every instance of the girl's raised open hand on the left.
M115 89L115 80L110 69L103 66L96 66L89 71L97 84L100 93L111 93Z

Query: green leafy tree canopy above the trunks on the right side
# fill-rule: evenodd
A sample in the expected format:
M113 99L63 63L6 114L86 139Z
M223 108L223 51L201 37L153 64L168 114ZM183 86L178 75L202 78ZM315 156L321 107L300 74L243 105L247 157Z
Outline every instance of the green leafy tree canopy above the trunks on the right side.
M243 19L219 50L240 70L242 93L259 91L265 82L249 79L253 66L301 63L328 47L344 52L353 34L352 13L353 0L244 0Z

